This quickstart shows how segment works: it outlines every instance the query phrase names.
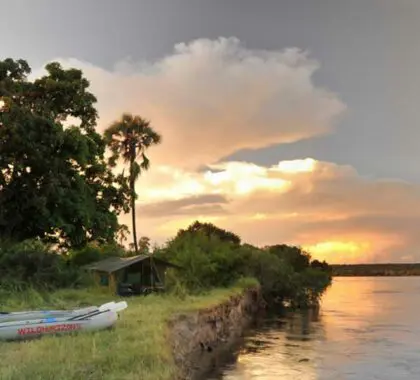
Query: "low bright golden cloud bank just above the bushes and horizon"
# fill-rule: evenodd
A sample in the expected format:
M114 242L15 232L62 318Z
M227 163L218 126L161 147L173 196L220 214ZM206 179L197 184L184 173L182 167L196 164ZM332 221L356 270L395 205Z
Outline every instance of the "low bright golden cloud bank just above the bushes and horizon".
M330 262L420 259L420 186L372 180L352 167L310 158L271 167L227 162L180 173L166 174L160 185L157 173L153 186L144 179L149 194L160 194L158 200L143 193L138 204L139 219L155 239L200 219L257 245L302 245Z

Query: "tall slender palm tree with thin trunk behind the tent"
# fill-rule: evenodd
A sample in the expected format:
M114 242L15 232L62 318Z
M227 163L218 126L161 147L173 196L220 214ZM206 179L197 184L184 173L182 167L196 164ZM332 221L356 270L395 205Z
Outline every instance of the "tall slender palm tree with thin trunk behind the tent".
M112 123L105 130L105 141L111 150L109 163L115 167L118 160L122 159L129 164L129 186L131 195L131 216L133 225L133 242L136 253L138 252L136 231L136 190L135 183L142 171L148 170L150 161L146 150L152 145L161 142L162 137L150 126L148 120L140 116L123 114L121 119Z

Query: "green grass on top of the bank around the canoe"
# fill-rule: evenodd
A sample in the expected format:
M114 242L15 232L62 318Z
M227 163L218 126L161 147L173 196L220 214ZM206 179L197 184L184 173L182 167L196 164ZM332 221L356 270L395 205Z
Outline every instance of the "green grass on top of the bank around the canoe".
M169 294L128 298L128 308L113 330L0 342L0 379L173 380L176 368L167 340L170 317L215 306L253 284L246 280L229 289L183 298ZM117 298L98 289L0 293L0 310L73 308Z

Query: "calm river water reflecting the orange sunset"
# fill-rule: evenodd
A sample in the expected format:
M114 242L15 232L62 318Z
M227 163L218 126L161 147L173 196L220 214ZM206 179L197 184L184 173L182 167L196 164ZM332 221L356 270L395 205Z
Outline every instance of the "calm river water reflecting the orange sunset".
M318 313L264 320L208 379L420 379L420 277L335 278Z

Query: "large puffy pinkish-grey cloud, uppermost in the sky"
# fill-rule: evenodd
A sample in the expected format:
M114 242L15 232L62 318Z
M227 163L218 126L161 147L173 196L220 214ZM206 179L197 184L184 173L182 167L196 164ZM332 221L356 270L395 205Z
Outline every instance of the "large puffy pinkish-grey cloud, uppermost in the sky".
M150 119L163 144L156 165L196 168L243 148L324 134L345 106L312 80L319 65L298 49L250 50L236 38L180 43L155 62L112 71L76 59L98 98L103 129L123 111Z

